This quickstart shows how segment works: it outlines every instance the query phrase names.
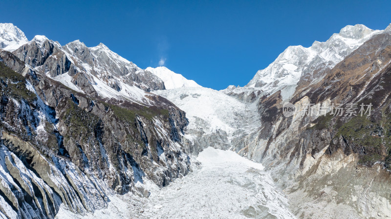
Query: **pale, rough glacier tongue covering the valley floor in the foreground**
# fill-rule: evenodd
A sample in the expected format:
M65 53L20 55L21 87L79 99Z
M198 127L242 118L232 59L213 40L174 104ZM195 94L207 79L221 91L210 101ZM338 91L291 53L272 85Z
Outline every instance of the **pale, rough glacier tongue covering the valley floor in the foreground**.
M62 208L57 217L295 218L288 210L286 197L260 163L211 147L192 159L193 173L162 189L153 187L148 199L131 194L113 196L108 209L80 216Z

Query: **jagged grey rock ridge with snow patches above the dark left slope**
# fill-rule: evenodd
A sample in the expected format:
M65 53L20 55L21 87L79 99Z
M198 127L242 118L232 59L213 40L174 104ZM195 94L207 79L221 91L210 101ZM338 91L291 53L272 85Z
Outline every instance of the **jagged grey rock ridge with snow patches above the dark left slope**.
M20 30L19 34L24 36ZM14 42L12 45L19 44ZM126 99L153 105L148 98L151 94L147 92L164 89L163 81L157 76L112 52L103 43L87 47L75 40L62 46L45 36L35 36L13 53L29 67L69 88L81 93L96 93L104 99Z

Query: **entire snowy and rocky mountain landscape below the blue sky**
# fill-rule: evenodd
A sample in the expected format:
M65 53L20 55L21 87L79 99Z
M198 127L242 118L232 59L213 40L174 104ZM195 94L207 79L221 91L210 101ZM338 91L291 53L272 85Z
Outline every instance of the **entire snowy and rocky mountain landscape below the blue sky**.
M5 26L0 218L391 215L391 25L290 46L245 87L223 91L143 70L102 43L23 43ZM374 111L287 118L287 99L302 111L329 100Z

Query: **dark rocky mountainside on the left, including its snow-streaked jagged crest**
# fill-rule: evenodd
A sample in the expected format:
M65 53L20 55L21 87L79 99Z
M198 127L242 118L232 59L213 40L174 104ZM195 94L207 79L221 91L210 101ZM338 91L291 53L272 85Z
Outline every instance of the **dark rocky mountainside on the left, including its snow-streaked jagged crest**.
M36 36L0 50L0 82L1 218L54 218L61 204L83 214L189 171L185 112L145 92L164 83L103 44Z

